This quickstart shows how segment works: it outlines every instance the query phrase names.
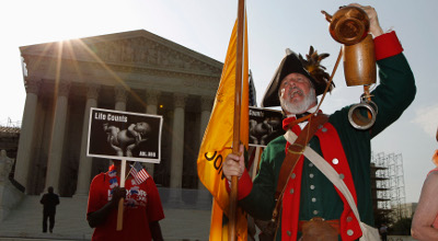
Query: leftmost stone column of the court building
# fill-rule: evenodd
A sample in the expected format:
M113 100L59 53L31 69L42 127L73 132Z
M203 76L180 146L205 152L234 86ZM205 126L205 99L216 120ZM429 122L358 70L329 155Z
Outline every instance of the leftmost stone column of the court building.
M19 152L16 154L14 179L27 187L28 170L31 165L31 157L34 139L34 127L36 117L36 105L38 102L38 92L42 81L25 79L26 101L24 104L23 119L21 124ZM27 188L25 190L25 192Z

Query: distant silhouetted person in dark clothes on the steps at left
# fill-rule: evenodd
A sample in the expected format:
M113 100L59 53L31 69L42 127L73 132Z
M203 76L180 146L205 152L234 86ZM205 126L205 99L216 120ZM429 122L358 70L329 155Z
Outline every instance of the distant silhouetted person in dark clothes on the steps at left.
M59 196L54 193L54 187L49 186L47 193L39 200L44 205L43 208L43 232L47 232L47 218L49 221L48 230L54 232L56 206L59 204Z

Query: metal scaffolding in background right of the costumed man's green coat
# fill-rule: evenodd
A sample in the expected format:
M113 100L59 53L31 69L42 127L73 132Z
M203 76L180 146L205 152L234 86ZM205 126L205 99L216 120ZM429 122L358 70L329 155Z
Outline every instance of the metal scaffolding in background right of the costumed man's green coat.
M410 217L408 211L404 208L406 196L401 153L372 153L371 181L376 191L373 193L374 210L391 213L395 220Z

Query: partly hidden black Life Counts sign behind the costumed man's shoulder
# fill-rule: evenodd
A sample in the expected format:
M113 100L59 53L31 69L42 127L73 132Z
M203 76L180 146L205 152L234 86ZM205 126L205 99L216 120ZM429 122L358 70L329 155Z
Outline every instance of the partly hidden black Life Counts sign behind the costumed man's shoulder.
M284 134L281 112L250 107L250 146L266 147Z

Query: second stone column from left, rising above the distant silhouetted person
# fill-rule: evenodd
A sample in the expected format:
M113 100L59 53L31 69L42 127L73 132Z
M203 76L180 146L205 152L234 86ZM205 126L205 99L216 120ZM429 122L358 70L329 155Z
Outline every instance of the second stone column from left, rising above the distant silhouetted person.
M56 99L55 117L47 161L46 188L44 188L47 190L48 186L53 186L55 193L59 193L59 175L62 163L62 147L70 85L70 82L60 82L58 85L58 97Z

